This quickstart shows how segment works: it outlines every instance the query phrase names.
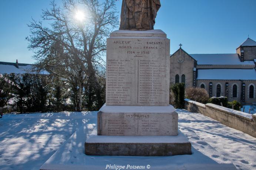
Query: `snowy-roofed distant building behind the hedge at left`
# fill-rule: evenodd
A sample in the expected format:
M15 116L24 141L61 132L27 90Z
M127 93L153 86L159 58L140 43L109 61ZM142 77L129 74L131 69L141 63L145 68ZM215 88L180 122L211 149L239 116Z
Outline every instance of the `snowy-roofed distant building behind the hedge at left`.
M0 74L10 74L10 73L15 73L15 74L24 74L24 73L37 74L38 72L36 72L34 70L36 70L35 65L18 63L18 60L16 60L16 63L0 62ZM42 70L39 73L40 74L49 74L46 70Z

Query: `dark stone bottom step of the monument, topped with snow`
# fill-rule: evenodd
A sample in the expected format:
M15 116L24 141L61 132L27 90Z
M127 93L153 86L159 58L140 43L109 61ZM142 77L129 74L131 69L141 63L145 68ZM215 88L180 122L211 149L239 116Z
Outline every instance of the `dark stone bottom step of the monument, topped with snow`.
M177 136L102 136L95 128L84 143L86 155L173 156L191 155L191 143L182 132Z

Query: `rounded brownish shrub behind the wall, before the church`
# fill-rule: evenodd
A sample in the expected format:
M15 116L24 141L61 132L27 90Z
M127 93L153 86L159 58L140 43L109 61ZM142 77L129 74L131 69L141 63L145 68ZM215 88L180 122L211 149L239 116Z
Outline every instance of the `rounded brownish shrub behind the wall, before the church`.
M207 93L207 91L203 88L198 87L186 88L185 97L203 104L206 104L209 100L209 94Z

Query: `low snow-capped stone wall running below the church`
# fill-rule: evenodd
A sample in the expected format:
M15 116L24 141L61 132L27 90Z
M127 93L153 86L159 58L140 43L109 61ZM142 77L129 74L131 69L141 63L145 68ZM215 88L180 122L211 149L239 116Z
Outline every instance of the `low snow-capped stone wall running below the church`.
M256 138L256 114L247 114L211 103L202 104L189 99L185 99L184 108L190 112L199 112Z

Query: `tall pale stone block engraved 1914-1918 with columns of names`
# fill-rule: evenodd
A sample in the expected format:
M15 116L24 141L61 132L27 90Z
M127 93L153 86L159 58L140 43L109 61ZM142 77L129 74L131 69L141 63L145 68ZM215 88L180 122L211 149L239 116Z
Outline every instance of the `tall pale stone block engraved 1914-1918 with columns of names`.
M106 69L106 105L169 105L170 40L163 31L112 32Z

